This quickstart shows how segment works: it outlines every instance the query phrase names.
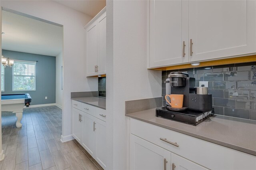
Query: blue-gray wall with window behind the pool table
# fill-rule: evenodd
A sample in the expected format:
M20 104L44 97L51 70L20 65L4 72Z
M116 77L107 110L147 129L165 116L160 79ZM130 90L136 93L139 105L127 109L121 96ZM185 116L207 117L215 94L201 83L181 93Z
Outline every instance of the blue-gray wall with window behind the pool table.
M17 51L2 51L6 58L38 61L36 63L36 91L12 91L12 68L4 69L4 92L2 94L29 93L31 105L55 103L56 97L56 58L53 56L23 53ZM47 96L47 99L45 97Z

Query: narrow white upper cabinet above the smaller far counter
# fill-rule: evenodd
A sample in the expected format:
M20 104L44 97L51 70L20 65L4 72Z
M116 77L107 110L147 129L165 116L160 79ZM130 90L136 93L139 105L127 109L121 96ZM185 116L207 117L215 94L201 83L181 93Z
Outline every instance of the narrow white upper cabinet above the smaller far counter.
M85 27L86 76L106 74L106 7Z

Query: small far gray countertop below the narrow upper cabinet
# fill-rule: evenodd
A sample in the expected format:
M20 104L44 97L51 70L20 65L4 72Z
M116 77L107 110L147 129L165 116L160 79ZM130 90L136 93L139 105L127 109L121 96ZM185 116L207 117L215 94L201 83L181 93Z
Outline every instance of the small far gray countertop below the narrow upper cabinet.
M106 110L106 98L105 97L74 97L71 99Z

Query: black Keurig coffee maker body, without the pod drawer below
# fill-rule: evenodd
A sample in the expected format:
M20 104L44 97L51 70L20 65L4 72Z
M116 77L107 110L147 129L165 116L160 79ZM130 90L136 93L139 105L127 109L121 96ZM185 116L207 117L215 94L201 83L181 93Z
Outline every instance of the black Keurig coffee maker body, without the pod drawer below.
M171 94L184 95L183 107L203 112L212 111L212 95L196 94L195 78L182 72L171 72L168 78L170 79Z

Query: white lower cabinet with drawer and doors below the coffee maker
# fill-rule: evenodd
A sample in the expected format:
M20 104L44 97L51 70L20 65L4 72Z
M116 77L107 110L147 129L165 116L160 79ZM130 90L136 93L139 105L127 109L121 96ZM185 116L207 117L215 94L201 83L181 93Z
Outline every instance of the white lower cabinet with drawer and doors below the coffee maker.
M256 156L136 119L129 135L131 170L256 170Z

